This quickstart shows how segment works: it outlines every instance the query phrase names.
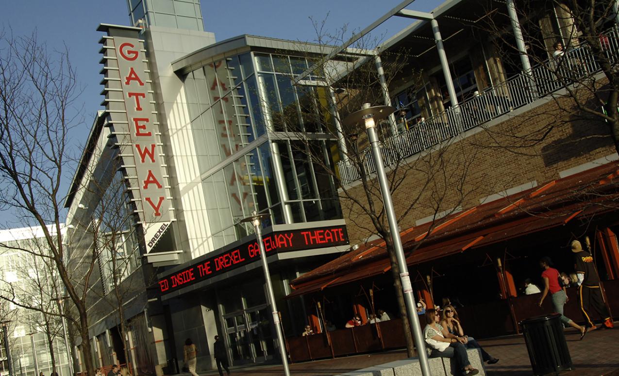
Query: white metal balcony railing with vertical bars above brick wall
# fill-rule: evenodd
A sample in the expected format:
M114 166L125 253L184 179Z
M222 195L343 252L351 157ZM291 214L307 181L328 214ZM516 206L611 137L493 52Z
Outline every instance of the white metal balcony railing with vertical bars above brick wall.
M619 58L619 30L615 26L600 35L604 53L611 62ZM479 95L462 101L454 108L430 117L404 132L391 136L381 143L385 166L394 164L415 155L434 145L444 142L465 130L480 126L496 119L513 109L529 105L534 101L551 95L553 92L599 72L591 48L581 43L577 48L568 49L562 56L550 58L509 80L489 87ZM360 155L366 173L376 171L370 150ZM359 179L358 164L350 160L337 164L342 184L350 184Z

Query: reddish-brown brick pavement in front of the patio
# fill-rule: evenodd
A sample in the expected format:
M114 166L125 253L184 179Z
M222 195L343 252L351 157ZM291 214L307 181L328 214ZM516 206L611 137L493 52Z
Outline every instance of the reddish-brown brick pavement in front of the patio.
M615 326L617 323L615 323ZM566 330L569 353L574 370L561 372L566 376L619 376L619 328L614 330L594 330L579 341L576 330ZM489 376L532 375L529 355L522 336L506 336L479 341L488 353L501 359L495 365L487 365ZM290 364L290 374L294 376L337 375L350 370L371 367L372 365L405 359L404 350L385 353L365 354L322 361ZM232 375L277 376L283 375L282 366L257 365L253 367L233 367ZM201 372L201 375L218 375L217 370ZM225 375L225 372L224 372Z

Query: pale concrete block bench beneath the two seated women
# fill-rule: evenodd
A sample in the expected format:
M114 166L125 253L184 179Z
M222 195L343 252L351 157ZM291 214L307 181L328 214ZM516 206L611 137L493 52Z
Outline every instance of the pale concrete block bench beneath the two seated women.
M486 369L483 366L482 353L478 349L467 349L470 364L479 370L480 376L486 375ZM431 357L430 372L432 376L459 376L456 372L456 362L448 357ZM374 365L360 370L354 370L340 374L337 376L421 376L422 369L419 365L419 359L411 357L402 361L389 362L385 364Z

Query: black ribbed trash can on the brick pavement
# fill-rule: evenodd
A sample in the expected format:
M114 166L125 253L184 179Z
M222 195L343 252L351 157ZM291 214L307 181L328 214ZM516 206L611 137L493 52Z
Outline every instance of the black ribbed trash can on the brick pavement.
M520 322L534 375L558 374L573 369L560 314L527 318Z

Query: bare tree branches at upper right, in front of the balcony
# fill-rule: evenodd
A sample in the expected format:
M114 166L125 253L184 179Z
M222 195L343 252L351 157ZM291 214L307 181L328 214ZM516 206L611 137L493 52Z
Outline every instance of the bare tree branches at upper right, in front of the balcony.
M489 134L500 147L511 152L530 153L526 149L543 144L558 127L576 128L579 140L608 137L619 152L619 29L617 5L614 1L524 0L516 2L516 11L526 51L519 51L514 33L509 27L508 7L495 9L480 26L493 40L503 65L521 66L526 56L532 69L524 74L529 80L500 83L493 90L503 90L510 96L513 90L529 92L535 98L552 98L554 106L544 111L529 111L522 122L553 117L548 124L541 121L538 129L522 133L519 129L507 135ZM501 73L503 75L504 73ZM517 87L518 86L518 87ZM590 125L604 124L600 133ZM501 140L498 140L501 139Z

